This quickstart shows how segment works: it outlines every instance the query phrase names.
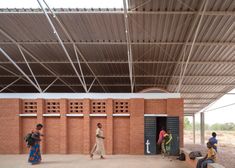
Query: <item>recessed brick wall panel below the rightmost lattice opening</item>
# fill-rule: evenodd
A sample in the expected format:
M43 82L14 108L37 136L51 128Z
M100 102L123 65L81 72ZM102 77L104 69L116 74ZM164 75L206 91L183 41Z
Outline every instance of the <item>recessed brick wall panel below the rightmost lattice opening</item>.
M130 153L130 118L115 117L114 118L114 154Z

